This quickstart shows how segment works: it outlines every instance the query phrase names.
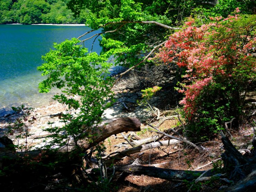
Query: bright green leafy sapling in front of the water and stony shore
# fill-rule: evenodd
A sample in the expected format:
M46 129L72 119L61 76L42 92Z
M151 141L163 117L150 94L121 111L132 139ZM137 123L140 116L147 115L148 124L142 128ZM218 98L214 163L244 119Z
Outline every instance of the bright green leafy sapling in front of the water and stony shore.
M64 127L50 127L54 133L52 143L63 145L71 136L77 141L83 137L93 139L94 124L101 121L104 109L108 107L108 98L111 98L112 79L109 76L108 57L90 53L86 48L77 45L80 40L73 38L57 44L42 59L45 61L38 67L47 79L39 84L40 92L49 92L52 87L62 89L62 94L54 99L67 106L66 115L62 121ZM68 112L78 109L75 116ZM61 134L62 133L62 134ZM65 134L63 134L65 133ZM64 142L64 143L63 143Z

